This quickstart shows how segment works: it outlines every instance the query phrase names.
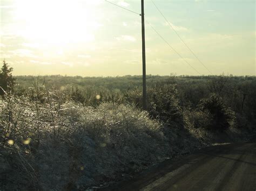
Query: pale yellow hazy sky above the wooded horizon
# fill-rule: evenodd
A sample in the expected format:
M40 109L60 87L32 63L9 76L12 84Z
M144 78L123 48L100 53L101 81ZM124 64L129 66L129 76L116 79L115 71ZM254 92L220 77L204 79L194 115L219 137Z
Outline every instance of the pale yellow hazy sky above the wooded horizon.
M140 13L139 0L109 1ZM254 0L154 0L201 62L144 2L147 74L255 75ZM0 0L0 22L14 75L142 75L141 17L104 0Z

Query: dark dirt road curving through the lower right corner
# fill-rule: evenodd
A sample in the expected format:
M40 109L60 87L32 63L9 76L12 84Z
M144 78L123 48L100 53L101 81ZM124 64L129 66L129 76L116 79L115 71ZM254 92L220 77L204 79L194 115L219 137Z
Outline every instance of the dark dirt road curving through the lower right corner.
M162 162L109 190L256 190L256 143L218 145Z

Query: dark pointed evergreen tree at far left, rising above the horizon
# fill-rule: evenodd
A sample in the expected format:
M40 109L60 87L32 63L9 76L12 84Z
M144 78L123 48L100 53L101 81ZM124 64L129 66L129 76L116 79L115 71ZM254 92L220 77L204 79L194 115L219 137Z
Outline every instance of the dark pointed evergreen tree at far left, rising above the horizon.
M4 91L11 91L14 89L15 78L12 77L12 70L13 68L9 67L8 63L4 60L0 70L0 95L4 95Z

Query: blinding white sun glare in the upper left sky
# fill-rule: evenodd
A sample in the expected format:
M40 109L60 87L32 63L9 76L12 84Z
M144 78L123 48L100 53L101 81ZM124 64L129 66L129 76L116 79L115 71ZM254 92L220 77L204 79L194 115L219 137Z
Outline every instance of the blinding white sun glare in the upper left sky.
M18 33L38 43L65 45L94 39L100 26L90 1L16 0L14 18ZM98 2L98 1L95 1Z

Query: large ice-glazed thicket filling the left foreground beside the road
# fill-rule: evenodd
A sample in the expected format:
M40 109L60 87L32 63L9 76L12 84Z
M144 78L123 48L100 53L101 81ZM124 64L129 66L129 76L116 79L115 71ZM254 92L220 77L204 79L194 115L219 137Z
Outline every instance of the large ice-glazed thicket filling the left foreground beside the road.
M132 106L0 101L0 189L84 189L162 160L161 124Z

